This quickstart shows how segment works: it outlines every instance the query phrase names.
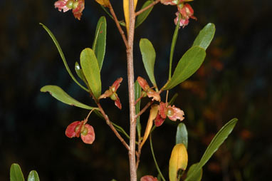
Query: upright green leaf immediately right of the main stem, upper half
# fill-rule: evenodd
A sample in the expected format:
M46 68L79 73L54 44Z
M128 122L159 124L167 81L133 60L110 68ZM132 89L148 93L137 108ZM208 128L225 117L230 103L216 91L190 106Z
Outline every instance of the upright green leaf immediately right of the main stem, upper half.
M152 43L147 38L142 38L140 40L140 51L142 53L142 62L144 63L145 71L147 71L147 75L150 78L153 86L157 88L154 76L156 53L154 47L152 46Z

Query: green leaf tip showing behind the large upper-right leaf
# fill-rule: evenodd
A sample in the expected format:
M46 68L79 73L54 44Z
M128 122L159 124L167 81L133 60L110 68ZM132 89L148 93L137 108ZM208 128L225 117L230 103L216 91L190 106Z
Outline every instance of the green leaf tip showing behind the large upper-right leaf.
M206 26L199 32L199 35L194 40L193 46L200 46L206 50L214 38L215 26L214 24L206 24Z

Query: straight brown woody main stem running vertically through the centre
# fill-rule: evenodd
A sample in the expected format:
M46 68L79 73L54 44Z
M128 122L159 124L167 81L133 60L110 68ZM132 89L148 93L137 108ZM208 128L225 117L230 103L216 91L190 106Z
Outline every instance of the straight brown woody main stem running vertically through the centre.
M134 68L133 68L133 40L135 30L135 10L134 1L129 0L130 27L127 32L127 79L130 102L130 181L137 181L137 168L135 159L135 139L136 139L136 116L135 116L135 91L134 91Z

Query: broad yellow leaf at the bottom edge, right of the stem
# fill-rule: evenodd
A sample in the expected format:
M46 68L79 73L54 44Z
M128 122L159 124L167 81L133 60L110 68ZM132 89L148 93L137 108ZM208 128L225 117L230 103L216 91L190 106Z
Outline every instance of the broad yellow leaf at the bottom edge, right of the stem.
M177 181L179 170L186 170L188 163L188 154L186 147L179 143L174 146L169 160L169 180Z

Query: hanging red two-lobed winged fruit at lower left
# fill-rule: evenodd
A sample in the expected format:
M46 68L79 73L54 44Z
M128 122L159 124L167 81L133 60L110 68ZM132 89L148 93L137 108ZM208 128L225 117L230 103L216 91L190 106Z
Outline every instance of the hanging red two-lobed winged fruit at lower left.
M86 124L87 120L75 121L66 128L68 138L79 137L84 143L92 144L95 140L95 131L93 126Z

